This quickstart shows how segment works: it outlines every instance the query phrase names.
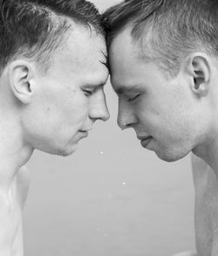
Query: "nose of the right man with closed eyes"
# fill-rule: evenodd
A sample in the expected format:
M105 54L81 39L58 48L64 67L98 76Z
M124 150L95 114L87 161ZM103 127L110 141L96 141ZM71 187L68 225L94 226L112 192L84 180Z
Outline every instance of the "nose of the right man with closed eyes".
M137 122L137 119L133 114L132 107L128 106L124 100L119 100L117 121L119 128L122 130L126 128L133 128L133 125Z

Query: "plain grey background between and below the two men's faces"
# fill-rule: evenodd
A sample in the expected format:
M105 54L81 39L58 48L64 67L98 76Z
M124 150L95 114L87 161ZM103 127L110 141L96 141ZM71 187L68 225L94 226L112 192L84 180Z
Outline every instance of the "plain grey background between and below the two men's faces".
M116 3L92 1L100 10ZM167 256L194 250L190 159L165 163L111 119L69 157L35 151L24 209L27 256Z

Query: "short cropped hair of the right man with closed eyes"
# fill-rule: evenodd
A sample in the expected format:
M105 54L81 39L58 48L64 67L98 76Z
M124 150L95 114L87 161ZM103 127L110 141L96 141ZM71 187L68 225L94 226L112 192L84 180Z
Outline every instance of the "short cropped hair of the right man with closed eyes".
M107 47L127 27L145 59L172 76L195 51L218 56L217 0L126 0L103 14Z

